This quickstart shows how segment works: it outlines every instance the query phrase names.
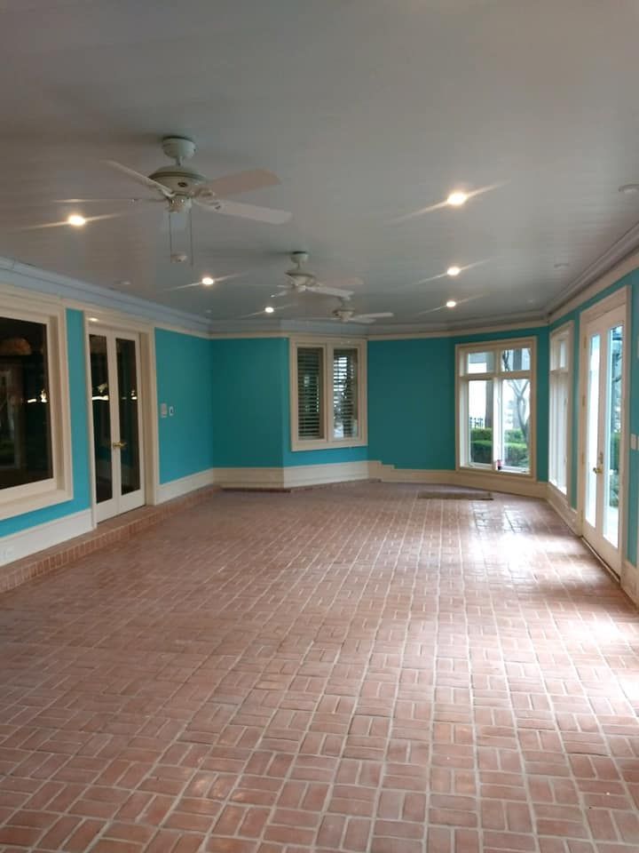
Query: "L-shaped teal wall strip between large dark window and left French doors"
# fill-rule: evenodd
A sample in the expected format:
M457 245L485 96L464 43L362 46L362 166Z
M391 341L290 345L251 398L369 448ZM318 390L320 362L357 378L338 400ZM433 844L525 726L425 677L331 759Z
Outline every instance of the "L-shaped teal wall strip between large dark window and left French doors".
M71 449L73 454L74 497L63 504L46 506L32 513L0 521L0 537L36 524L53 522L65 515L82 512L91 506L89 474L89 426L86 403L86 360L82 311L67 309L68 381L71 410Z

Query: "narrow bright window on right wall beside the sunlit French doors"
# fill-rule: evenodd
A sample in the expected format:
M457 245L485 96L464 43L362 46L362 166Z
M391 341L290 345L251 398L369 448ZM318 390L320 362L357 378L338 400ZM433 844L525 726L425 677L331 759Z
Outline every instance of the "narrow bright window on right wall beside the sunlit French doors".
M550 423L548 430L548 480L568 494L570 447L572 327L562 326L550 335Z

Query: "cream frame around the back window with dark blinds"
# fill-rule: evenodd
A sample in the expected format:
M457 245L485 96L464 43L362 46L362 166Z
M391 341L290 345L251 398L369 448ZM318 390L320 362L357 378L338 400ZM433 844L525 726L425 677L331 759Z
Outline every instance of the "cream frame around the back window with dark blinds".
M314 347L322 350L324 376L322 377L322 416L324 438L299 438L297 422L297 350ZM358 353L358 422L359 435L333 438L333 352L335 349L356 349ZM289 346L290 368L290 431L291 450L327 450L335 447L363 447L367 437L367 344L361 339L345 338L291 338Z

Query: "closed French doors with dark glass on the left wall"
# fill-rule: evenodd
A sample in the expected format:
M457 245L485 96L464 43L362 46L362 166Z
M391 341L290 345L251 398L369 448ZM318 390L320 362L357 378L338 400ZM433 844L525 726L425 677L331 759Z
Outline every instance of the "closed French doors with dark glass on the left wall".
M145 503L140 406L139 337L89 335L97 520Z

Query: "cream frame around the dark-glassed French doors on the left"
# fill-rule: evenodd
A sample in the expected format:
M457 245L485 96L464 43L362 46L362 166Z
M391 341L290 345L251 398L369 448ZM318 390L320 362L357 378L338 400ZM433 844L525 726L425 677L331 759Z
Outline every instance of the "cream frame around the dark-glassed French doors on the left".
M98 505L96 502L96 470L93 447L93 406L91 401L91 352L89 335L134 332L139 338L139 396L140 396L140 458L144 476L145 503L154 506L158 500L159 450L157 424L157 383L155 375L155 330L151 323L119 315L101 309L84 311L84 355L87 388L87 426L89 431L89 471L91 489L91 522L98 526Z

